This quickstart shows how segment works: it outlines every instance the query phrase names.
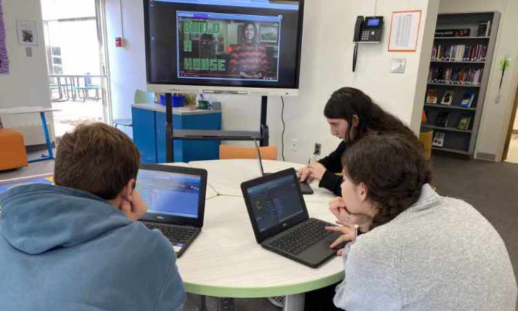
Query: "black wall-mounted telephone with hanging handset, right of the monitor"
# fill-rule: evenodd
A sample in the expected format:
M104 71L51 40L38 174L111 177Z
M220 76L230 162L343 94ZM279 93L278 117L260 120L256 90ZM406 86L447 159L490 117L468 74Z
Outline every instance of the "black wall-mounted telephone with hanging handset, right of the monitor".
M383 35L383 16L358 15L354 26L354 55L352 58L352 71L356 70L356 58L358 57L358 44L378 44Z

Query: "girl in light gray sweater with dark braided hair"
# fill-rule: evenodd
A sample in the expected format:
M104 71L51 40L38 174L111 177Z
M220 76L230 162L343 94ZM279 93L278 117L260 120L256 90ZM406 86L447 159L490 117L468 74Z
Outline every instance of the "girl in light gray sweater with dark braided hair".
M514 311L517 284L501 237L462 200L439 196L421 151L372 135L343 156L342 197L330 203L343 236L345 279L334 304L355 310ZM357 225L357 226L354 226ZM331 245L334 247L334 245Z

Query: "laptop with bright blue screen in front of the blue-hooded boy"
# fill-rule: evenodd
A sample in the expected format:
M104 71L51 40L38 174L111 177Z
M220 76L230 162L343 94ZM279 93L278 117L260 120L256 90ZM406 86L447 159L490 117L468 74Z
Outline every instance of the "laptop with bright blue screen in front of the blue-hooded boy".
M202 230L206 188L204 169L140 164L137 190L148 206L140 221L149 229L159 229L178 257Z

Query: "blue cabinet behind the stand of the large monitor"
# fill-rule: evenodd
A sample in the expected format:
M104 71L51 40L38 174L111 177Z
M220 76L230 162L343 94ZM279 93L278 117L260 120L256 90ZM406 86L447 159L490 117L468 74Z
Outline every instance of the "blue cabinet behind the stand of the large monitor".
M166 162L166 113L158 104L134 104L133 140L141 153L141 162ZM173 109L175 129L221 130L221 111L180 111ZM215 160L220 158L220 141L174 140L174 162Z

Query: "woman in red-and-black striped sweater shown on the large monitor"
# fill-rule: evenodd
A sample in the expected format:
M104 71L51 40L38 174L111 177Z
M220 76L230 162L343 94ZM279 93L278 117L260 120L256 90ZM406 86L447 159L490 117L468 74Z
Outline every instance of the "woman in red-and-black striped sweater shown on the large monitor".
M268 67L266 47L258 44L259 33L255 23L245 21L241 30L242 43L231 46L231 73L247 79L261 79Z

